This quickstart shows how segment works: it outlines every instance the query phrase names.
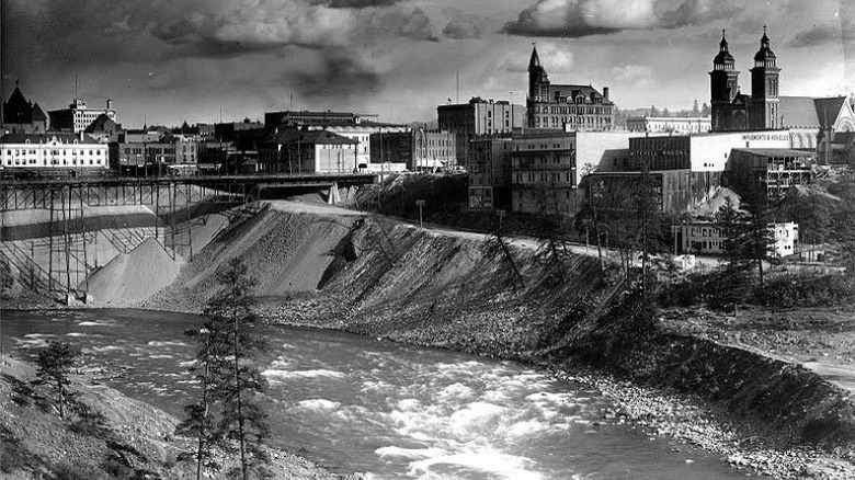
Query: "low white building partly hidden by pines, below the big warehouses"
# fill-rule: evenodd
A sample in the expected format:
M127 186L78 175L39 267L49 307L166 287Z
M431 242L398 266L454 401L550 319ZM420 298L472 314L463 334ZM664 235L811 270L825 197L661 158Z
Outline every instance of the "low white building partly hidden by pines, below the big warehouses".
M799 226L793 221L770 224L775 236L775 255L779 258L796 253L799 240ZM691 253L720 254L725 251L725 235L721 227L713 221L695 221L681 227L682 250Z

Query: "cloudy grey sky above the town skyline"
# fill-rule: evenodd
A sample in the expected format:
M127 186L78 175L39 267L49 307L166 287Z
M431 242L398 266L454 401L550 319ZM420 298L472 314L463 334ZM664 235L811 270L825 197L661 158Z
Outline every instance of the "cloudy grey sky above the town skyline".
M784 95L855 91L851 0L0 0L3 95L46 111L113 99L126 127L288 108L429 121L456 99L525 102L537 44L555 83L618 107L708 101L727 28L750 90L763 24Z

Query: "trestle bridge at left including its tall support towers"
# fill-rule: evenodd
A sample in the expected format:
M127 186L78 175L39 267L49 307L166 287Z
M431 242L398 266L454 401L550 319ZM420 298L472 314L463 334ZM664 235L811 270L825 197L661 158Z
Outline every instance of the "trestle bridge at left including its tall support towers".
M0 180L0 261L18 273L23 285L71 301L81 294L81 283L99 267L99 238L114 250L127 252L144 238L153 237L173 259L176 254L192 259L191 227L204 221L204 217L197 218L206 212L200 209L202 204L226 204L215 206L218 210L238 206L251 214L260 208L256 201L265 197L323 190L329 190L328 202L337 203L339 188L371 184L376 179L373 173L282 173ZM151 224L114 228L109 233L92 225L112 214L95 213L92 218L91 207L129 205L150 208ZM43 212L22 212L34 209ZM7 216L23 227L7 225Z

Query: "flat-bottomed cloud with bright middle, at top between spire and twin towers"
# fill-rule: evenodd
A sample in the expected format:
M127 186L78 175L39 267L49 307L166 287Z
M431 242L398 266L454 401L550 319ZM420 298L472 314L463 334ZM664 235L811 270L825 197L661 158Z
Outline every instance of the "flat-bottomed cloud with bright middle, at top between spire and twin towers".
M671 30L729 19L741 7L713 0L538 0L503 33L578 38L624 30Z

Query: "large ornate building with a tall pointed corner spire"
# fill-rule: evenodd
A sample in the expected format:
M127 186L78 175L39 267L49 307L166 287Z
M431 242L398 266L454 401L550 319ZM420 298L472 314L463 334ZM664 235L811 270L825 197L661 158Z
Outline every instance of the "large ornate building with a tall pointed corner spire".
M614 125L614 110L607 87L600 93L592 85L551 83L540 65L537 47L532 49L526 104L529 128L609 130Z

